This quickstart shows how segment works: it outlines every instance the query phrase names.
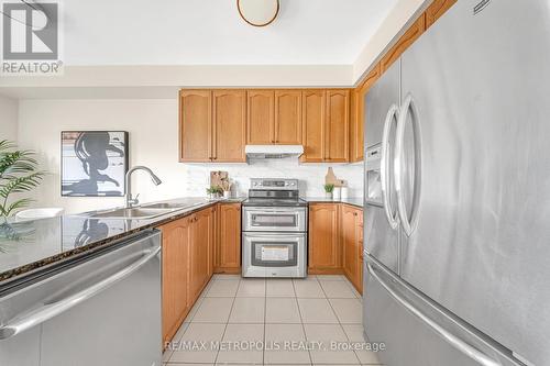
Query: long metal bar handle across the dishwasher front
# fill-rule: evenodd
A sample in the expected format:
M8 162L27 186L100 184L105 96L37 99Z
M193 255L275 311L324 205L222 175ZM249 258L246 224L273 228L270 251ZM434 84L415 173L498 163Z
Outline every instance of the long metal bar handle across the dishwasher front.
M143 267L147 262L156 257L160 252L160 246L153 249L144 249L140 253L143 255L140 259L117 271L112 276L109 276L108 278L102 279L99 282L94 284L92 286L79 292L61 299L59 301L44 304L37 309L14 317L11 321L8 321L7 323L0 325L0 341L10 339L28 329L31 329L54 317L57 317L61 313L69 310L70 308L76 307L77 304L86 301L95 295L106 290L116 282L130 276L131 274ZM135 256L135 253L132 255L132 257L133 256Z

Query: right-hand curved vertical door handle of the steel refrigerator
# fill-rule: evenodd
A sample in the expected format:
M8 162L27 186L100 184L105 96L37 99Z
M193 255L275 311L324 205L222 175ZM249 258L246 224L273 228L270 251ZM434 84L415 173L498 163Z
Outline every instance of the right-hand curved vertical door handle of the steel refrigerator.
M404 168L405 168L405 164L403 160L403 151L404 151L404 140L405 140L405 125L407 123L408 115L411 117L410 121L413 124L413 137L415 144L415 179L414 179L413 207L411 207L410 218L408 217L407 204L405 203L404 182L403 182ZM418 212L420 206L420 193L422 185L420 121L418 118L418 110L416 108L415 100L410 93L408 93L407 97L405 98L405 101L403 102L399 111L394 159L395 159L394 174L395 174L395 190L397 192L397 208L403 230L405 231L405 234L407 236L410 236L418 223Z

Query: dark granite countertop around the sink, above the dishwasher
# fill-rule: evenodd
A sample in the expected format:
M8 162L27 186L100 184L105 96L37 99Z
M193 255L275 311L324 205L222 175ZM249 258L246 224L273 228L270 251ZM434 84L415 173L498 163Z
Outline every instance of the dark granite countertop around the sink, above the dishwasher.
M243 200L244 198L167 200L162 202L178 203L182 208L150 219L92 218L95 212L86 212L4 223L0 225L0 288L23 275L69 257L86 255L141 230L183 218L218 202Z

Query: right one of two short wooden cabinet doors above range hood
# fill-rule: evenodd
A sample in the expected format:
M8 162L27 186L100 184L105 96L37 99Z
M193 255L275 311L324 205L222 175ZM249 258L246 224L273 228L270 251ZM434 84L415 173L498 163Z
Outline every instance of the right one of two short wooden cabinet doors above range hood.
M275 91L275 143L301 144L301 91Z

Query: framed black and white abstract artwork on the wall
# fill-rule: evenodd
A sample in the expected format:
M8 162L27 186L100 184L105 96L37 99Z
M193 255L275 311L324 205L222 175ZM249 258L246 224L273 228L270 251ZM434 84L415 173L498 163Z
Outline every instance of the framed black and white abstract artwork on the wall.
M62 196L124 196L127 170L128 132L62 132Z

